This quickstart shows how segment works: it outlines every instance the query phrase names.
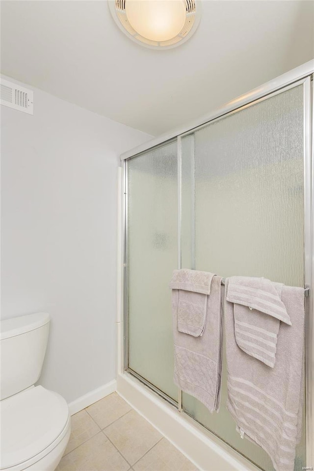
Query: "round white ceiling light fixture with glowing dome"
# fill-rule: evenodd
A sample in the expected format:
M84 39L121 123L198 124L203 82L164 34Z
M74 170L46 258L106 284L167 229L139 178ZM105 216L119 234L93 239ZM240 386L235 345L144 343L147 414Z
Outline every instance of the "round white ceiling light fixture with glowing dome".
M179 46L200 21L200 0L108 0L108 4L126 35L153 49Z

